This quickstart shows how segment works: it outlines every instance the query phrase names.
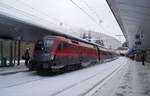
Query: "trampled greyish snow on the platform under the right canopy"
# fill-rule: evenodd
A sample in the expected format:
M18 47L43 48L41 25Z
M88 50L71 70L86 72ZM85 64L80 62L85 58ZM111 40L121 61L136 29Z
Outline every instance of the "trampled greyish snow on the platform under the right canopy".
M150 96L150 64L129 61L129 69L123 76L113 96Z

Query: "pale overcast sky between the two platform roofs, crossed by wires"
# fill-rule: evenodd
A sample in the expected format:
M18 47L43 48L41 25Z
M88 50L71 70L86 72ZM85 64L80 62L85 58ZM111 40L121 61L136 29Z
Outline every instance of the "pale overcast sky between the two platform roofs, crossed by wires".
M73 2L71 2L73 1ZM19 10L66 28L83 28L124 41L105 0L1 0ZM80 8L81 9L80 9ZM101 23L100 23L101 22Z

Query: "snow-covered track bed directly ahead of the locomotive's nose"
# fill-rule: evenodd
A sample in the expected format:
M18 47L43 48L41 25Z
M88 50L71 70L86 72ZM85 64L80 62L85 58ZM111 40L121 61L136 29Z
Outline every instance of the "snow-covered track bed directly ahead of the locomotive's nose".
M22 77L22 75L26 75L25 79L24 79L24 77ZM0 85L0 88L15 87L15 86L24 85L27 83L46 79L46 78L36 75L35 72L28 71L28 70L4 73L4 74L1 74L1 76L2 77L0 77L0 82L2 81L1 82L2 84ZM11 78L13 80L9 80L9 78ZM3 81L3 79L5 79L5 81ZM4 82L4 85L3 85L3 82Z

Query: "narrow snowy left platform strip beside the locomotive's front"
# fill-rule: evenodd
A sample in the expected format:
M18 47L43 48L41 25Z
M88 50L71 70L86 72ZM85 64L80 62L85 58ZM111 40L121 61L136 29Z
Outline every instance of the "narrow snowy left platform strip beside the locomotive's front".
M20 65L10 66L10 67L0 67L0 74L26 71L28 68L24 64L24 60L20 61Z

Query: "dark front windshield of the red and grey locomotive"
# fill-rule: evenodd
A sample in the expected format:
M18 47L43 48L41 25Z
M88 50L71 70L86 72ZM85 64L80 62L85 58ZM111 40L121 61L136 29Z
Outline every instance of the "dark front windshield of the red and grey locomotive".
M50 53L53 45L53 40L39 40L35 45L35 52Z

